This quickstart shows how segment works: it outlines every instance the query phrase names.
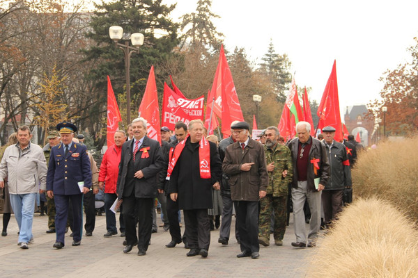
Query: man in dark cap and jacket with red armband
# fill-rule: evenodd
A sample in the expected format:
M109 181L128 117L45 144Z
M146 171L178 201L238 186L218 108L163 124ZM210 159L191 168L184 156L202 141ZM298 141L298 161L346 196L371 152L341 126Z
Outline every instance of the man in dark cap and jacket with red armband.
M335 215L342 211L344 188L351 188L351 170L346 147L334 140L334 127L325 126L323 134L331 166L331 177L322 193L324 221L329 226Z

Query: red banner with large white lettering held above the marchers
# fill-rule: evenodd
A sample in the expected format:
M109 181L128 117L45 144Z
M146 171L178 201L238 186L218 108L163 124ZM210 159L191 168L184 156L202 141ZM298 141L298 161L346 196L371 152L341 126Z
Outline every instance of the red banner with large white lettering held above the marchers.
M177 89L178 90L178 89ZM204 96L197 99L186 99L176 94L167 83L164 83L164 99L162 101L162 125L174 130L176 122L186 125L191 120L203 120Z

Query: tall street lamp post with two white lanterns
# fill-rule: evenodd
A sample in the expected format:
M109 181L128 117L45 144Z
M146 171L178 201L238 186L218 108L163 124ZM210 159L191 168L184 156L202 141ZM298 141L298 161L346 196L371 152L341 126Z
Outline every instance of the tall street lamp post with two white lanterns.
M130 34L130 40L133 47L129 45L129 34L124 38L125 44L121 44L118 40L123 37L123 28L121 26L111 26L109 28L109 37L114 40L117 47L123 50L125 54L125 78L126 78L126 120L130 124L130 56L132 53L139 53L139 47L144 44L144 35L141 33Z

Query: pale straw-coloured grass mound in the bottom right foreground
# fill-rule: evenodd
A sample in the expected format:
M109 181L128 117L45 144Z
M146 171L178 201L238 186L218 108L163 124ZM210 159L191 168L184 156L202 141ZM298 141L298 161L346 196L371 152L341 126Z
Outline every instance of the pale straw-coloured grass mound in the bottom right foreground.
M307 277L418 277L414 222L377 197L345 208L317 246Z

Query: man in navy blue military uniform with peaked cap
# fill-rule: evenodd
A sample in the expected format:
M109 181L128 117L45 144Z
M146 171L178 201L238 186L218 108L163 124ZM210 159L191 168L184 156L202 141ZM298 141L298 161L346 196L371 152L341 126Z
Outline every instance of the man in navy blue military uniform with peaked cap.
M72 246L82 240L82 200L83 194L91 188L91 164L87 148L72 142L77 126L70 122L56 125L61 135L61 143L52 147L47 173L47 195L55 199L56 242L54 248L64 247L65 224L68 217L68 204L72 204Z

